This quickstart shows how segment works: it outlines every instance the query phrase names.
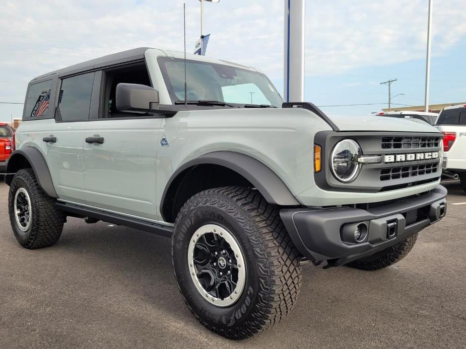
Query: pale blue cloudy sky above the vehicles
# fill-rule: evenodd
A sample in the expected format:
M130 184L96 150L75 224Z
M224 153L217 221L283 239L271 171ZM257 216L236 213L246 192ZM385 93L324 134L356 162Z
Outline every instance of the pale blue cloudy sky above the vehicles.
M135 47L183 50L181 0L3 0L0 120L22 115L27 83L48 71ZM306 0L305 100L367 115L424 104L428 0ZM186 47L200 35L186 0ZM205 4L207 55L258 68L283 91L284 0ZM430 103L466 102L466 1L434 0ZM398 105L396 105L398 107Z

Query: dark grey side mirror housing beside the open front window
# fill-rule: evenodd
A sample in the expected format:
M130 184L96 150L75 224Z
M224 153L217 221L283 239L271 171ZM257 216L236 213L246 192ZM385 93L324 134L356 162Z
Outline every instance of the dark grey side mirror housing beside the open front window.
M116 109L120 112L147 113L159 103L159 92L150 86L120 82L116 85Z

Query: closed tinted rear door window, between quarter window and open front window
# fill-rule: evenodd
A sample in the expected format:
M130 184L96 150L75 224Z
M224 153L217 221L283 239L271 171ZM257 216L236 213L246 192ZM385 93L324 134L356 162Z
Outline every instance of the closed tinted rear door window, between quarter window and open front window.
M60 97L58 99L61 120L89 120L94 75L95 73L92 72L73 76L61 82Z

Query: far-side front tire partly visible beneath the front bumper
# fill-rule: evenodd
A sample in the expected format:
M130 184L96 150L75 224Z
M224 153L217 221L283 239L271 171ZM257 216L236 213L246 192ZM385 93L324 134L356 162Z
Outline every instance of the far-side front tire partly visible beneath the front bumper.
M418 234L414 234L396 245L388 247L383 251L377 252L371 256L354 260L348 263L349 267L361 270L379 270L389 267L403 258L413 249Z

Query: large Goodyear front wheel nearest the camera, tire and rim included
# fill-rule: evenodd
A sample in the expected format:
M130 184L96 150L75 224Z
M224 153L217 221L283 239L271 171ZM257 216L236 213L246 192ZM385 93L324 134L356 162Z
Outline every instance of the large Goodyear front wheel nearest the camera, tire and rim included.
M172 256L188 308L227 338L269 328L296 303L300 254L278 210L257 191L224 187L190 198L176 218Z

